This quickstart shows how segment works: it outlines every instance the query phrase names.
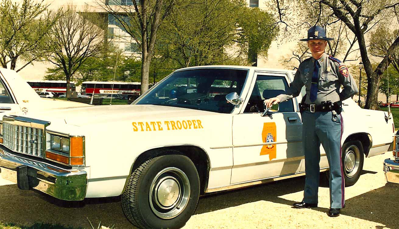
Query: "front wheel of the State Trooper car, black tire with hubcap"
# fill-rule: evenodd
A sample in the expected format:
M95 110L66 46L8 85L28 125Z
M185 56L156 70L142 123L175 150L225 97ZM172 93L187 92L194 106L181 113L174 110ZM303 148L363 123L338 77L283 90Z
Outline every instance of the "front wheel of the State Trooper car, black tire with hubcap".
M124 214L136 227L178 229L194 213L198 198L196 166L188 157L173 154L154 157L135 168L121 202Z

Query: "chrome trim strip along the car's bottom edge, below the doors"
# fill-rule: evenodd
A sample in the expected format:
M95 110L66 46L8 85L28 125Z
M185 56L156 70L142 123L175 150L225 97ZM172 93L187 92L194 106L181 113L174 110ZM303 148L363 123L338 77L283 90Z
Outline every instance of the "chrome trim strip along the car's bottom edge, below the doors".
M327 170L328 170L328 168L321 168L320 172L324 172ZM237 184L232 184L229 186L224 186L224 187L219 187L219 188L210 188L210 189L207 188L205 190L205 192L206 193L219 192L219 191L225 191L225 190L231 190L231 189L237 189L237 188L244 188L244 187L253 186L253 185L257 185L257 184L265 184L265 183L269 183L269 182L273 182L273 181L277 181L277 180L288 179L288 178L293 178L293 177L303 176L303 175L305 175L305 171L296 172L294 174L288 174L288 175L284 175L284 176L275 176L275 177L265 178L265 179L261 179L261 180L237 183Z

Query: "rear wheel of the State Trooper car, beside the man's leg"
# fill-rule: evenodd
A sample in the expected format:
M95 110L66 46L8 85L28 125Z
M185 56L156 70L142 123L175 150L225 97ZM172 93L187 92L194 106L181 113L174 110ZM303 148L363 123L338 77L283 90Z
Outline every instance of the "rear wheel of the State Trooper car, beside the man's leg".
M342 145L342 169L346 187L356 184L359 180L363 162L364 152L360 141L348 141Z

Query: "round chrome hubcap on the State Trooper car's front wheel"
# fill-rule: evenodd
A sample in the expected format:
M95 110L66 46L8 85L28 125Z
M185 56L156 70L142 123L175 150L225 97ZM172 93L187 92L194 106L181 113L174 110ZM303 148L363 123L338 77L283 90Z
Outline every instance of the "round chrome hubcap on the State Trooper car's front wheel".
M149 192L150 207L161 219L172 219L180 215L189 198L190 181L179 168L164 168L152 180Z

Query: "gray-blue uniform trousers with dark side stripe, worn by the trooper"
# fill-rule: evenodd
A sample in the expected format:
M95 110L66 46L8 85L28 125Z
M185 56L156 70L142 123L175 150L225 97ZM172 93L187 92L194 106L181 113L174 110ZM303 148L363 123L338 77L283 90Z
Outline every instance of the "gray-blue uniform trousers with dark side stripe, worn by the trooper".
M320 177L320 143L330 165L330 207L343 208L345 204L345 181L342 170L341 137L343 120L332 120L332 112L302 112L302 144L305 154L305 188L303 202L318 203Z

